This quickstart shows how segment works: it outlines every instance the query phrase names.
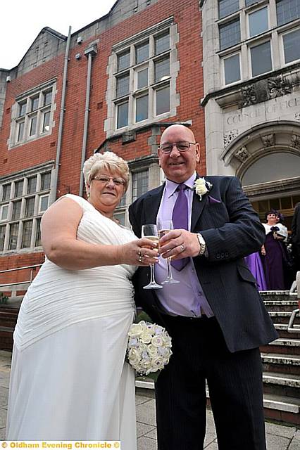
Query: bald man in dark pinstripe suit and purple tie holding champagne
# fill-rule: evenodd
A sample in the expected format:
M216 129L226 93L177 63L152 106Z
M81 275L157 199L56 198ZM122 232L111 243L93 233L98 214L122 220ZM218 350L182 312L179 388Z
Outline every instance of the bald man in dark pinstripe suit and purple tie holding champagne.
M265 450L258 346L277 333L244 263L265 233L236 177L196 174L199 152L190 129L165 129L158 148L165 184L130 206L137 236L143 224L158 220L173 219L175 228L161 239L155 273L161 283L172 256L180 283L144 290L149 269L139 267L135 275L137 304L173 342L156 383L158 450L203 449L206 383L218 448Z

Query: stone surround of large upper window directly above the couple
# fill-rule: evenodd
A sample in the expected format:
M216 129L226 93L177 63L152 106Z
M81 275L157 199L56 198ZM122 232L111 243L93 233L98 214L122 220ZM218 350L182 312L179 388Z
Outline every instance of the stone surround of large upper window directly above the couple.
M136 122L133 123L133 117L130 117L129 121L132 122L132 124L128 124L127 127L123 127L122 129L116 128L116 121L117 121L117 108L116 104L119 103L115 98L115 73L117 68L117 54L122 53L123 50L130 46L135 46L136 44L139 44L139 42L142 43L147 37L153 36L154 34L160 34L164 30L170 30L170 78L165 82L166 86L170 86L170 111L167 113L163 113L159 116L154 115L154 98L155 95L152 96L152 99L149 98L149 102L152 102L152 108L149 106L150 110L150 117L146 120L143 120L142 122ZM107 91L106 91L106 103L108 105L108 114L107 119L104 122L104 130L106 131L106 137L111 137L116 134L120 134L120 131L128 131L131 129L138 129L141 126L144 126L144 124L151 124L153 122L157 122L157 120L165 120L168 117L173 117L177 114L177 106L180 104L179 102L179 95L176 94L176 78L179 72L179 61L177 58L177 49L176 44L179 41L179 34L177 32L177 25L174 23L173 17L170 17L168 19L163 20L160 23L157 23L156 25L153 25L146 30L143 30L142 32L135 34L134 36L125 39L125 41L121 41L118 44L115 44L112 47L112 53L111 56L108 58L108 67L107 67L107 74L108 74L108 84L107 84ZM162 53L163 56L164 53ZM160 55L157 56L159 58ZM144 63L142 63L144 64ZM162 83L162 84L161 84ZM159 84L159 87L164 86L164 82L161 82ZM155 86L154 86L155 87ZM158 87L158 86L157 86ZM151 87L150 87L151 89ZM155 91L155 89L154 89ZM153 94L154 94L153 91ZM134 92L130 92L130 96L132 96ZM122 102L120 102L122 103ZM135 108L132 108L135 109ZM151 110L153 114L151 115ZM132 114L135 113L135 111L132 112ZM132 115L131 115L132 116Z

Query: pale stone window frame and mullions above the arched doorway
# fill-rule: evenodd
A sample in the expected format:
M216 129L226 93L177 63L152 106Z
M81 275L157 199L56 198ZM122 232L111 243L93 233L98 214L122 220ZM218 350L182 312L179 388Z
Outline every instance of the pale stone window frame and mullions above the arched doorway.
M283 66L292 65L296 60L285 64L285 57L283 51L282 34L289 31L296 30L295 25L300 24L300 19L284 25L277 26L277 16L276 16L276 1L275 0L261 0L259 3L253 4L244 8L244 0L240 0L241 9L236 13L232 13L225 18L217 20L218 25L223 25L226 22L230 22L232 18L237 18L239 16L241 22L241 42L235 46L225 49L223 51L217 51L216 55L220 60L220 73L221 73L221 84L222 86L232 86L238 84L239 82L245 81L252 77L251 75L251 46L256 46L263 44L265 41L270 41L271 47L271 59L272 59L272 72L273 70L280 69ZM258 34L257 36L249 38L249 20L248 14L258 11L259 9L268 6L268 21L269 30ZM215 11L216 17L218 17L218 1L217 10ZM241 78L236 82L225 84L225 72L224 72L224 62L225 58L232 56L233 54L239 53L240 55L240 72ZM258 75L259 76L259 75Z

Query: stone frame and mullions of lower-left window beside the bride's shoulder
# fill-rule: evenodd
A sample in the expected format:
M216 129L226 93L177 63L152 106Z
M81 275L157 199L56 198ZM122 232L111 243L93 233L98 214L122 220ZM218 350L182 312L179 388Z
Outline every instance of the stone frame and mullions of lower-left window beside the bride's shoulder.
M44 211L40 210L41 206L41 198L45 197L46 195L49 195L50 200L50 193L51 193L51 183L50 188L45 189L43 191L40 190L40 183L41 183L41 176L44 173L51 173L54 167L54 162L48 162L43 165L39 165L36 167L32 167L27 170L23 170L20 172L15 172L14 174L9 174L6 176L0 177L0 199L2 199L2 192L3 188L2 186L4 184L11 184L15 183L17 181L24 180L24 186L23 186L23 194L18 197L18 200L21 200L21 210L20 210L20 217L18 219L9 219L9 220L3 220L0 221L0 226L6 226L6 232L5 232L5 240L4 240L4 250L0 251L0 255L12 255L15 253L32 253L32 252L41 252L42 246L36 246L35 240L37 237L37 221L42 217L42 214ZM32 193L24 193L27 191L27 179L37 176L37 186L35 189L35 192ZM52 180L52 174L51 174L51 180ZM32 198L35 197L35 210L34 214L30 217L25 217L25 208L26 208L26 198ZM11 210L13 207L13 200L15 198L9 198L8 200L0 200L0 207L1 205L9 205L8 207L8 217L11 215ZM27 248L21 248L22 245L22 237L23 237L23 222L33 220L32 223L32 237L31 237L31 244L30 247ZM17 241L17 248L14 250L8 250L8 241L9 241L9 227L11 224L19 224L18 229L18 241Z

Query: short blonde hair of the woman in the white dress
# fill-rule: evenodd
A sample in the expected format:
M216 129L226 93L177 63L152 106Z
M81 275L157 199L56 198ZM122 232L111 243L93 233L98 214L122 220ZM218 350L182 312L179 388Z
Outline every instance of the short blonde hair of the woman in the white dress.
M102 169L112 174L120 174L125 181L124 192L127 190L129 181L129 167L123 158L113 152L95 153L85 161L83 165L83 175L85 176L85 188L89 193L89 186L94 176Z

